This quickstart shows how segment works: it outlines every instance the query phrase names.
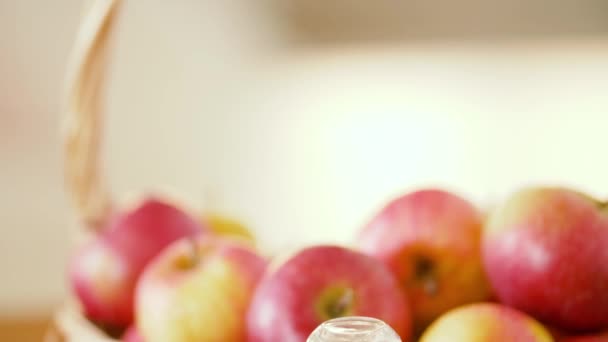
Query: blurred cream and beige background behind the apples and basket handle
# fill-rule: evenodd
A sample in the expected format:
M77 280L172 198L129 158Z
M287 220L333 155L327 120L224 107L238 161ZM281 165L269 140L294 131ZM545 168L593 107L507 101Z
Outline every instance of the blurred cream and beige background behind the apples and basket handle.
M60 104L83 8L0 0L2 341L39 340L67 297ZM527 184L605 198L607 33L601 0L127 0L106 175L236 216L269 253L348 243L423 186L480 208Z

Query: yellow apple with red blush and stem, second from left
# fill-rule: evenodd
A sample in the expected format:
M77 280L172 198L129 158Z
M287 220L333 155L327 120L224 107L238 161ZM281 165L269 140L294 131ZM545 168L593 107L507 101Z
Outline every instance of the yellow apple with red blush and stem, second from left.
M244 243L206 236L176 241L146 268L136 321L146 342L237 342L266 260Z

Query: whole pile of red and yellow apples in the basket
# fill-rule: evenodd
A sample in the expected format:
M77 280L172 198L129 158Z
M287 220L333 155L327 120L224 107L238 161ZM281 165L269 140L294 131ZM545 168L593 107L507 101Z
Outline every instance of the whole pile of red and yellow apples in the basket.
M75 254L70 280L130 342L304 342L343 316L403 341L608 342L608 206L580 192L524 189L484 215L421 190L356 241L268 260L238 224L148 199Z

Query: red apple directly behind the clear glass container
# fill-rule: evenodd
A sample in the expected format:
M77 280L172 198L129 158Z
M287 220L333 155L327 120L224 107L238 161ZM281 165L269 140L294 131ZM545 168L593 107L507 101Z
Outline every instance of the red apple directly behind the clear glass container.
M322 322L344 316L383 320L409 340L407 300L381 262L344 247L308 247L260 282L247 313L247 341L304 342Z

